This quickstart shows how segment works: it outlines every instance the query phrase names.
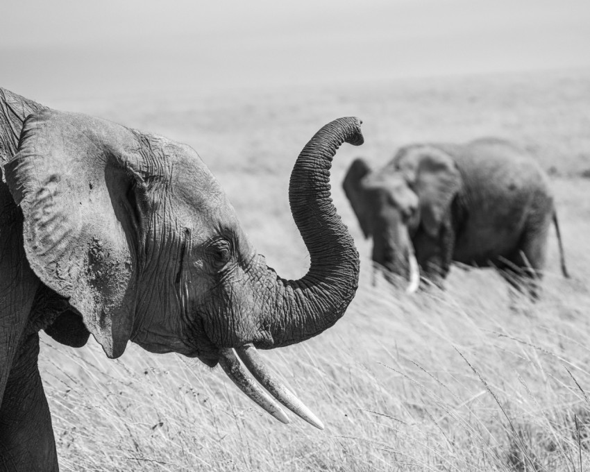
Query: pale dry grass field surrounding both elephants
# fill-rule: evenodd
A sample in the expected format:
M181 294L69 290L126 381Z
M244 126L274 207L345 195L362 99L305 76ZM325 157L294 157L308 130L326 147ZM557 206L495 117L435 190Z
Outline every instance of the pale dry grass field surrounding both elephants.
M264 353L326 430L276 422L198 361L131 344L112 361L94 341L75 350L43 336L62 470L590 469L590 71L49 105L191 144L287 278L309 262L287 201L298 151L340 116L361 117L366 140L343 146L332 172L362 256L357 296L334 328ZM552 233L539 303L484 269L455 267L444 292L413 297L371 286L370 243L340 186L351 160L482 135L525 146L552 177L572 278Z

